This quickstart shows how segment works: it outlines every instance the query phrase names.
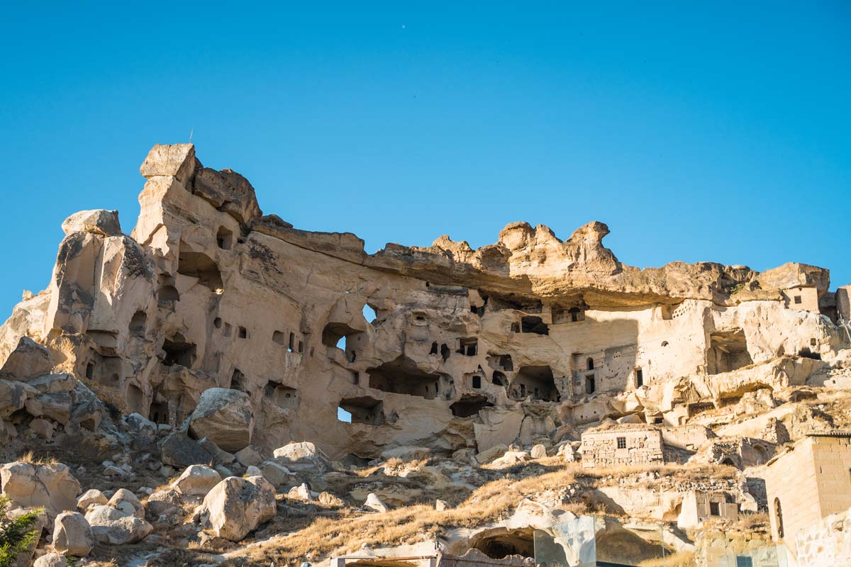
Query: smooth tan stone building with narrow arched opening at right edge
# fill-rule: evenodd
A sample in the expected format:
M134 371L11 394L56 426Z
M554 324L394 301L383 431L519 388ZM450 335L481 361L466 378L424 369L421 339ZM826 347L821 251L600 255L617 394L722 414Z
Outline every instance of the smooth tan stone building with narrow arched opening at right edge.
M809 434L768 462L765 488L774 539L851 507L851 432ZM793 551L790 548L790 551Z

